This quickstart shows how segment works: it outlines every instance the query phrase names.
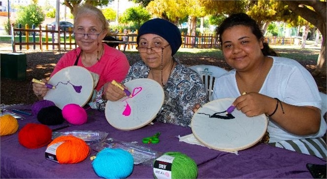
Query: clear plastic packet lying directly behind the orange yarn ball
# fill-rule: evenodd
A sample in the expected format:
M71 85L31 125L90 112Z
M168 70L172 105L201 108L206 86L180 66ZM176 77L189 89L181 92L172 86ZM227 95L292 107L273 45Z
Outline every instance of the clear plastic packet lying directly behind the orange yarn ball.
M84 140L87 144L93 144L104 140L107 136L107 132L98 130L72 130L65 132L52 132L52 140L59 136L72 135Z

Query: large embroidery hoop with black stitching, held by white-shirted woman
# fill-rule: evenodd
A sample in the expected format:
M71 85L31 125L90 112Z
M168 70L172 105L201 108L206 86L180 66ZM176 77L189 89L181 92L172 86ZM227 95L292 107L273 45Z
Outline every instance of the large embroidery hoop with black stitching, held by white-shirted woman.
M210 118L207 115L225 111L235 99L218 99L204 104L193 115L192 132L203 145L220 151L239 151L252 147L265 134L268 119L264 114L247 117L235 109L234 119ZM221 113L220 115L225 115Z

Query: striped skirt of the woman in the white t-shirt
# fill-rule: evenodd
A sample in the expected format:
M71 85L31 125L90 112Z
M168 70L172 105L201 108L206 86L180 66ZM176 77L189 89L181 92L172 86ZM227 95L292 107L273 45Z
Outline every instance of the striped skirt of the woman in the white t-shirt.
M286 140L268 144L299 153L316 155L320 158L326 159L327 149L326 142L323 138Z

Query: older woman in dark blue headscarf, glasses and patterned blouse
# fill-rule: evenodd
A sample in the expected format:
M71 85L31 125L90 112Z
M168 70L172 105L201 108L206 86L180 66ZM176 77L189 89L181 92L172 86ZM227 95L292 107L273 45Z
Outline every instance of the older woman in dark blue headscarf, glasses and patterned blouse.
M150 78L163 87L164 102L156 121L189 127L196 103L207 102L207 94L201 78L193 70L182 65L173 55L182 45L180 30L163 19L145 22L137 35L137 50L142 61L131 66L122 83L133 79ZM117 101L126 94L118 87L108 84L103 98ZM99 91L98 96L103 92ZM105 102L98 102L104 110Z

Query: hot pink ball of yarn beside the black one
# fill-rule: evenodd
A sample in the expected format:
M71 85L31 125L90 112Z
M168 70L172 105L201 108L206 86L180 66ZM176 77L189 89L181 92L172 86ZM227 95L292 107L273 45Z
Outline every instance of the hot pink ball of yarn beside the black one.
M85 124L88 119L85 109L73 103L64 106L63 116L68 123L73 125Z

